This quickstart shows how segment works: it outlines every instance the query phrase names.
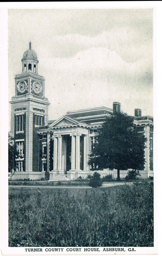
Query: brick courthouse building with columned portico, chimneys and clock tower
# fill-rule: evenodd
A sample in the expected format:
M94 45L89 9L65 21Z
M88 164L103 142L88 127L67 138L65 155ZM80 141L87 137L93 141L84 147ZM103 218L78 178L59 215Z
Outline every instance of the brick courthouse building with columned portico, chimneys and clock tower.
M38 75L37 67L37 55L30 43L22 58L22 73L15 76L15 97L10 101L11 134L19 152L12 179L40 179L45 172L50 172L50 180L85 177L92 173L88 159L97 132L108 116L120 111L120 103L114 102L112 108L69 111L58 120L49 121L45 80ZM142 116L141 109L135 109L134 123L147 138L141 171L150 176L153 175L153 117Z

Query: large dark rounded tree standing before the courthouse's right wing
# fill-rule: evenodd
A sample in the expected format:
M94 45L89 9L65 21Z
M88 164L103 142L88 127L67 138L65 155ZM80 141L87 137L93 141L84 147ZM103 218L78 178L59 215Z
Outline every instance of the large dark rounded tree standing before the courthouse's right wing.
M92 166L117 169L117 180L120 170L142 168L146 138L137 132L132 116L119 112L107 117L97 140L89 157Z

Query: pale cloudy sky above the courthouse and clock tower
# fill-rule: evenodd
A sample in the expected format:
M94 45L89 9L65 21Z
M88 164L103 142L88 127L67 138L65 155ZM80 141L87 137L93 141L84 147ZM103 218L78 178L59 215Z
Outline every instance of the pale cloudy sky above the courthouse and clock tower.
M153 116L153 9L9 9L8 101L30 41L49 120L114 101Z

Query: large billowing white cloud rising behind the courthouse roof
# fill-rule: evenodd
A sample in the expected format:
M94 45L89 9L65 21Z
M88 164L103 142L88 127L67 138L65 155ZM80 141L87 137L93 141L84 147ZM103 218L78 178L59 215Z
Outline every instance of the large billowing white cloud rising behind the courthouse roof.
M50 108L58 109L58 115L49 111L51 119L68 110L111 108L113 101L121 102L123 111L130 115L134 114L134 108L142 108L145 115L148 106L152 108L153 75L151 70L148 72L149 58L127 63L115 51L92 47L71 58L50 58L49 61L46 96L53 95Z

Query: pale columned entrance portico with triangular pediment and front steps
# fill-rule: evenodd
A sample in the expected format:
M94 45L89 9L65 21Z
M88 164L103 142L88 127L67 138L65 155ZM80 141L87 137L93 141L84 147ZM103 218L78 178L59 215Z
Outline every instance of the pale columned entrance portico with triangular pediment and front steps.
M75 177L75 173L88 171L89 129L84 123L62 116L50 125L53 128L53 170L50 180L56 175L66 174Z

